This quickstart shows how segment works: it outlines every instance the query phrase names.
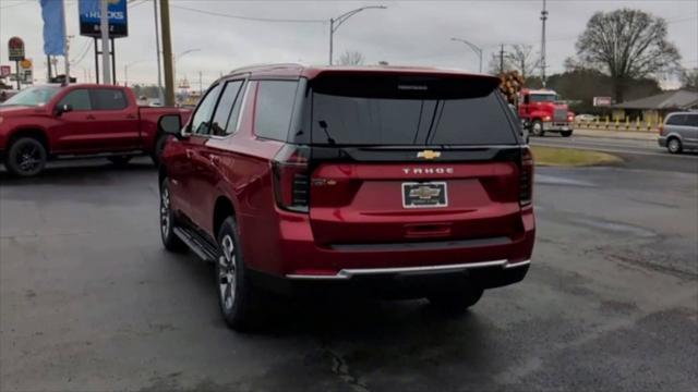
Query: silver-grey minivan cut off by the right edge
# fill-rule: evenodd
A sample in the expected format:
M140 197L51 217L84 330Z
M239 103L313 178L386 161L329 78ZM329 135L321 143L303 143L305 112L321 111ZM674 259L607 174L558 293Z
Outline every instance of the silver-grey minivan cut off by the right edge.
M666 147L671 154L698 148L698 112L671 113L659 132L660 147Z

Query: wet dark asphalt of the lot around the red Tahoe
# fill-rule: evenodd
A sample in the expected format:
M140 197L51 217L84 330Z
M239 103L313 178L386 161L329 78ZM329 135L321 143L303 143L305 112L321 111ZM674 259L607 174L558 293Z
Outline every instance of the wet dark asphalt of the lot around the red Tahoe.
M255 334L161 248L147 160L0 172L0 390L696 391L694 158L537 169L531 270L466 315L286 301Z

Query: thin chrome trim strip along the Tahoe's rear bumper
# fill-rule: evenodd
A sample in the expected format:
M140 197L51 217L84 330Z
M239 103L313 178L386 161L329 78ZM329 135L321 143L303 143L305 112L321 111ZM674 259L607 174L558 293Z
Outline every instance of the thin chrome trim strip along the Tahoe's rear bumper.
M377 274L392 274L392 273L419 273L419 272L458 272L474 268L486 267L502 267L504 269L524 267L531 262L531 260L525 260L519 262L509 264L508 260L493 260L493 261L479 261L479 262L466 262L459 265L444 265L444 266L423 266L423 267L398 267L398 268L348 268L342 269L334 275L311 275L311 274L287 274L288 279L299 280L344 280L351 279L353 277L377 275Z

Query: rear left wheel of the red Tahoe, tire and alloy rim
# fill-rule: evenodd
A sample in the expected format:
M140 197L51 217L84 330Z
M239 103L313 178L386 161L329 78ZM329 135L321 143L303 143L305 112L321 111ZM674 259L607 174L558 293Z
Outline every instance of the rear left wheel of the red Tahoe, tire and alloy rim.
M232 217L226 218L218 231L218 260L216 260L216 289L222 318L236 331L249 331L257 320L256 307L262 293L250 282L244 265L238 225Z

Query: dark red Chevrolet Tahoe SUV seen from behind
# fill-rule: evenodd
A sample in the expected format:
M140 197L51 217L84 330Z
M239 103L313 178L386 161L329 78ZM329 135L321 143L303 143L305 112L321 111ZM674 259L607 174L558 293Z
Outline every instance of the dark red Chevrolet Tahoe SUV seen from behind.
M532 157L498 83L387 66L233 71L163 152L165 247L215 262L234 329L268 291L465 309L524 279L533 249Z

